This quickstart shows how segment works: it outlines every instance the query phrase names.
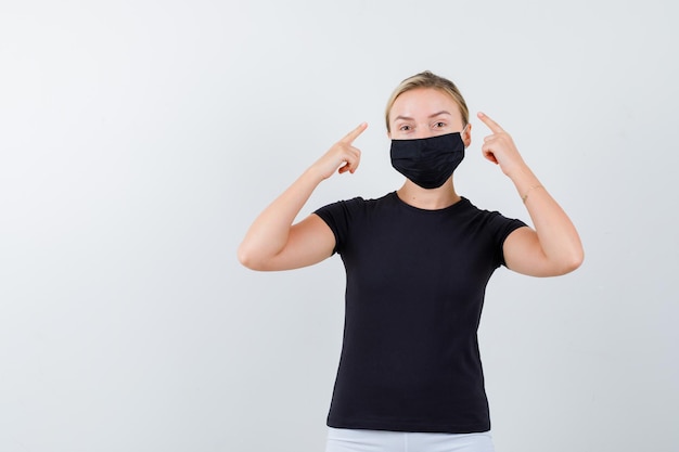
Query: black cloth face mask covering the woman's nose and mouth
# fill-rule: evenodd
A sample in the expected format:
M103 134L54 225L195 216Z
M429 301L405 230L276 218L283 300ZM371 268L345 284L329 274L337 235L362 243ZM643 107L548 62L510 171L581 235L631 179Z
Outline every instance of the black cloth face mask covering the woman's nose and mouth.
M392 166L423 189L438 189L464 158L462 132L392 140Z

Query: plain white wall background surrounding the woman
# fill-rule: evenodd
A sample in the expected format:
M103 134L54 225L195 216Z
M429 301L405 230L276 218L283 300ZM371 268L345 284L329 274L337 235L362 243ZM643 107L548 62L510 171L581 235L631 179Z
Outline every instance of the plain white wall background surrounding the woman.
M363 120L359 171L302 215L398 188L383 108L431 69L474 117L460 194L528 220L484 111L586 248L490 282L498 452L677 451L677 8L2 0L0 450L322 451L342 263L257 273L235 249Z

